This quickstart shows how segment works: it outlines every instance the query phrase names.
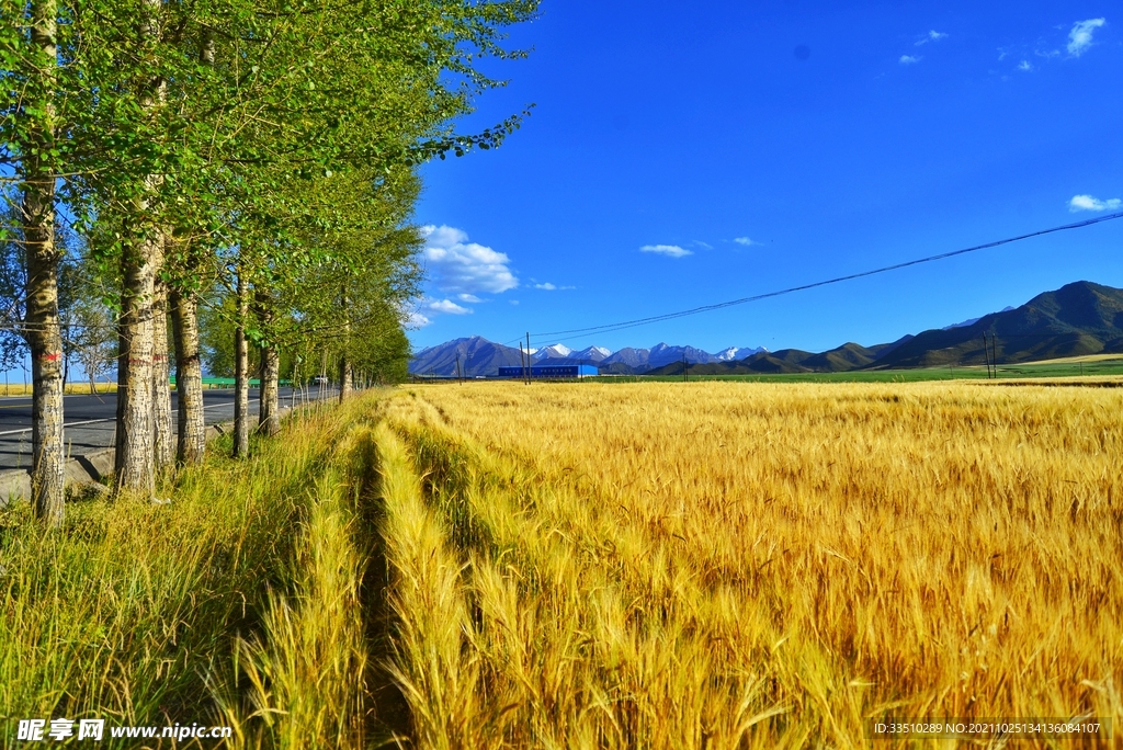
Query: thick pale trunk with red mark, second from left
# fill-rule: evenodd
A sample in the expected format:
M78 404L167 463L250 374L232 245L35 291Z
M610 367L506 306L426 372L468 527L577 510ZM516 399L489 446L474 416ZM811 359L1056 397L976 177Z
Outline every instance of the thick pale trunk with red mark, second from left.
M129 243L121 257L116 469L118 490L152 495L156 470L153 307L164 243L154 227L141 231L140 239Z

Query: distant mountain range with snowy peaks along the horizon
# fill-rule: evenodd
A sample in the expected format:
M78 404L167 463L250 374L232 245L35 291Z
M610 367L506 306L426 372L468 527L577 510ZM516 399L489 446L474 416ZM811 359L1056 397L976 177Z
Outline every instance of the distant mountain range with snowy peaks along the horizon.
M1006 308L946 328L906 335L889 344L847 342L828 351L768 351L764 347L730 347L710 354L692 346L657 344L648 349L579 351L555 344L531 354L535 362L595 365L603 374L677 374L685 358L692 373L751 374L896 369L986 360L983 335L995 337L992 351L999 364L1086 354L1123 353L1123 290L1075 282L1044 292L1019 308ZM518 348L482 337L447 341L419 351L410 363L418 375L455 376L457 356L465 377L494 376L501 366L522 364Z

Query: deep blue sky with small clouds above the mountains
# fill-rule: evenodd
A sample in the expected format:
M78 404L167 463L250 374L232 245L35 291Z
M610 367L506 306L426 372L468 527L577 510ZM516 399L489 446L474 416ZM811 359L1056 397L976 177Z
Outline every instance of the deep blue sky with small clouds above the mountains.
M435 162L420 349L770 292L1119 211L1123 7L1111 2L542 0L524 61ZM1079 198L1084 196L1084 198ZM1074 203L1074 199L1076 199ZM1123 287L1123 219L628 330L822 350L1078 280Z

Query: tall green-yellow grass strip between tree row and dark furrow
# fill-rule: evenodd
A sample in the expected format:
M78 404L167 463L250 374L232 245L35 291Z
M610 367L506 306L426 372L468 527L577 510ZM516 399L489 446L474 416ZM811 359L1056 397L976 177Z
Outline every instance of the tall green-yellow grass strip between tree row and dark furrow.
M4 744L20 719L91 717L364 747L367 459L346 436L376 400L294 418L250 460L216 447L170 505L75 503L55 532L0 512Z

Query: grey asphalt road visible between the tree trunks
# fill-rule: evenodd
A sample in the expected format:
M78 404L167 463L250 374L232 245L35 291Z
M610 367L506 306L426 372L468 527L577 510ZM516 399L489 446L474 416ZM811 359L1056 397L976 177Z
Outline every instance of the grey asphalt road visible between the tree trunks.
M330 397L332 388L298 390L295 403ZM172 393L172 421L175 422L176 394ZM293 403L292 388L281 388L281 404ZM70 455L92 452L113 445L116 438L117 394L65 396L65 439ZM249 392L249 413L257 415L257 390ZM203 391L203 414L207 423L234 419L234 390ZM31 399L0 397L0 470L28 468L31 465Z

